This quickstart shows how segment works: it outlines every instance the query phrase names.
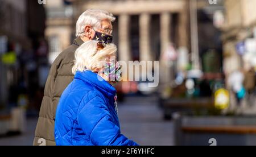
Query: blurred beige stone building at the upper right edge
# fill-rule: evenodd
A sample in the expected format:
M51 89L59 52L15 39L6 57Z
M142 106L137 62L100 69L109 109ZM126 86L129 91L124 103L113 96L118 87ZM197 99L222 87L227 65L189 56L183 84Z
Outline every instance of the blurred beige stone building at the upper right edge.
M249 62L243 61L243 55L237 53L237 44L245 42L246 39L256 38L256 1L225 0L224 5L225 25L221 29L225 56L224 71L229 75L233 71L241 70L246 62Z

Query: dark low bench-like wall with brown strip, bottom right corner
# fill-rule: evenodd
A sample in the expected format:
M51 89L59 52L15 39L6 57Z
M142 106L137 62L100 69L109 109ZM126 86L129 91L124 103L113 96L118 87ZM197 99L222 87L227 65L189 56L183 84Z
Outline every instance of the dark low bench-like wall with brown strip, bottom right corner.
M256 117L188 117L177 114L174 122L176 145L256 146Z

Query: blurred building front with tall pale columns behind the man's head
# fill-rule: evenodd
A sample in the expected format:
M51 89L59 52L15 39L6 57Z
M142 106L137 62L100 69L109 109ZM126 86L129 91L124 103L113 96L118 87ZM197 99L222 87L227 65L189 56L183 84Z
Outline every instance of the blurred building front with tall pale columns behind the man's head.
M94 0L76 1L75 5L77 16L87 9L103 9L117 17L113 35L114 43L118 44L119 60L148 61L158 60L158 54L166 51L170 42L176 47L188 47L187 2Z

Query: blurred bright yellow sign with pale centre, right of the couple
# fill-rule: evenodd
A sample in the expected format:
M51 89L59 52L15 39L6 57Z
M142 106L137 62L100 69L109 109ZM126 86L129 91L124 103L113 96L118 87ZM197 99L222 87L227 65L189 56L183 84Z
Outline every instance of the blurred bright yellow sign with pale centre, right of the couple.
M214 93L214 106L216 109L224 110L229 106L229 92L221 88Z

